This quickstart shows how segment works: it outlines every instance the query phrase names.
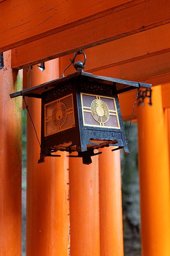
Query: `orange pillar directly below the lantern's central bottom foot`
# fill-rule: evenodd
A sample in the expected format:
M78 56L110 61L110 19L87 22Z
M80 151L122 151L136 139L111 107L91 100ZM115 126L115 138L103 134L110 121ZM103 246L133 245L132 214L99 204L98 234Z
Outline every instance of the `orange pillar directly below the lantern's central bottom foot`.
M71 255L100 256L99 164L92 157L89 166L70 158Z

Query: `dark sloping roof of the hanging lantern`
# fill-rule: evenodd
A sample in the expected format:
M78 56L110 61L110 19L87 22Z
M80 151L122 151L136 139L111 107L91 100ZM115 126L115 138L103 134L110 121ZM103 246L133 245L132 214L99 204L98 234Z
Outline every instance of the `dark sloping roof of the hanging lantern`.
M75 73L72 73L68 76L55 79L53 81L49 81L47 83L40 84L38 86L31 87L25 90L21 90L16 93L11 93L10 97L15 98L18 96L28 96L33 98L42 98L43 92L48 91L54 87L57 87L61 85L63 82L73 79L75 77L84 77L89 81L92 80L99 83L116 86L116 90L118 94L129 91L129 90L133 90L135 88L137 89L139 89L140 87L151 88L152 86L152 84L145 84L141 82L127 81L127 80L116 79L116 78L111 78L107 76L96 76L91 73L84 72L81 68L78 68Z

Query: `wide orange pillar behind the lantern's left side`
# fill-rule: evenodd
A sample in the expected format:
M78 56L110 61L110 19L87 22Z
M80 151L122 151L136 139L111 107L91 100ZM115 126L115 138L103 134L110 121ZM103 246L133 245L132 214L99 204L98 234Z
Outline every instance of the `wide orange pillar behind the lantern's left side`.
M45 63L41 72L36 66L29 69L27 86L56 79L59 75L57 60ZM31 117L40 138L41 101L26 97ZM27 117L27 256L68 256L69 235L69 177L68 157L40 157L38 144L29 116Z

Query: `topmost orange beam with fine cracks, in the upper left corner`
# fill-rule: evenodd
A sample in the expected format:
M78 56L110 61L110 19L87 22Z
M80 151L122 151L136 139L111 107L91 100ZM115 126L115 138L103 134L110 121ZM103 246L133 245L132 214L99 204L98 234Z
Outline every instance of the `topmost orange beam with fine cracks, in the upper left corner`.
M10 0L0 3L0 52L110 15L145 0Z

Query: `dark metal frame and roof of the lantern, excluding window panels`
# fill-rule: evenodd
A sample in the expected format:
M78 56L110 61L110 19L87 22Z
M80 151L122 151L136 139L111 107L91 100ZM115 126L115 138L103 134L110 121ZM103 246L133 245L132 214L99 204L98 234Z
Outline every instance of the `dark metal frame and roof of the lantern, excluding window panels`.
M17 96L28 96L42 99L42 123L41 123L41 153L39 163L44 162L45 156L59 156L56 154L51 154L55 151L77 151L77 156L70 157L82 157L83 163L89 164L91 163L91 156L99 154L94 153L94 149L103 148L105 146L117 146L115 149L124 148L125 152L129 154L129 149L127 146L127 140L124 131L124 125L122 121L122 114L119 107L118 94L123 93L132 89L139 89L140 87L151 88L151 84L145 84L140 82L126 81L122 79L114 79L105 76L96 76L91 73L84 72L82 68L77 68L75 73L72 73L68 76L49 81L45 84L38 85L36 87L32 87L29 89L21 90L16 93L10 94L11 98ZM58 108L64 108L62 106L62 99L72 95L73 99L73 113L75 116L74 126L66 128L62 131L54 132L54 134L44 134L45 121L44 121L44 108L48 106L51 102L57 103L57 111ZM107 127L103 125L100 128L99 125L89 125L85 124L85 117L83 116L83 95L89 95L96 97L96 101L98 104L98 112L102 111L100 116L107 119L107 116L104 115L105 102L103 104L103 109L99 106L101 100L105 98L113 99L115 102L115 111L114 116L118 116L119 127ZM95 104L95 102L94 102ZM95 107L94 107L95 108ZM59 110L61 112L61 110ZM67 111L67 110L63 110ZM86 110L90 112L90 110ZM57 113L60 113L57 112ZM106 110L107 112L107 110ZM64 112L63 112L64 113ZM111 113L111 111L110 111ZM91 112L92 114L92 112ZM63 116L62 116L63 117ZM93 116L94 117L94 116ZM65 119L65 117L63 117ZM63 120L64 120L63 119ZM94 118L95 119L95 118ZM101 117L99 117L101 119ZM54 120L55 121L55 120ZM61 122L61 120L56 122ZM65 122L65 120L64 120ZM105 122L105 120L103 121ZM100 123L100 124L101 124ZM57 126L57 125L56 125ZM119 131L118 131L119 130ZM121 134L120 133L121 130ZM58 134L59 136L58 136ZM112 133L112 134L111 134ZM76 135L76 137L75 137ZM121 135L121 136L120 136ZM54 147L54 139L58 140L58 145L56 148ZM91 140L90 142L90 139ZM101 140L102 139L102 140ZM98 140L98 141L97 141ZM73 143L72 145L76 145L76 148L71 147L69 145L69 141ZM90 143L89 143L90 142ZM62 143L66 143L67 147L64 147ZM100 144L101 143L101 144ZM62 145L62 146L59 146ZM90 148L88 148L90 145ZM101 152L100 152L101 153Z

